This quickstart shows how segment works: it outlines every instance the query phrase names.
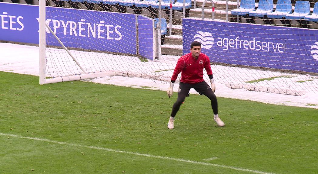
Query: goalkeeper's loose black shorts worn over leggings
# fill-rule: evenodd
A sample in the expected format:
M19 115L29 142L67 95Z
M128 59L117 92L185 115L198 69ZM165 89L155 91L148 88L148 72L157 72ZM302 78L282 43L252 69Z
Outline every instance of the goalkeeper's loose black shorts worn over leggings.
M180 82L178 93L180 93L180 94L182 93L182 94L186 95L187 93L189 93L191 88L196 90L200 95L212 92L211 87L205 81L203 81L203 82L195 83L195 84Z

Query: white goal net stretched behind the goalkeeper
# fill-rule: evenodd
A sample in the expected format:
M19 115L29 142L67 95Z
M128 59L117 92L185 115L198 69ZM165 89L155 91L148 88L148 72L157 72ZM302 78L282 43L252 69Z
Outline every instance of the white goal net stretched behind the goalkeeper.
M219 85L291 95L318 93L317 29L237 22L231 15L236 1L229 2L228 16L226 1L222 7L215 3L216 8L205 3L204 20L198 16L204 1L196 1L195 7L192 1L185 14L182 8L169 10L171 5L158 11L136 5L139 1L134 6L127 5L131 0L107 2L48 1L41 8L40 0L40 21L42 14L47 26L40 22L40 35L45 35L40 83L105 75L168 83L178 58L190 52L191 42L199 41ZM182 1L173 1L177 2Z

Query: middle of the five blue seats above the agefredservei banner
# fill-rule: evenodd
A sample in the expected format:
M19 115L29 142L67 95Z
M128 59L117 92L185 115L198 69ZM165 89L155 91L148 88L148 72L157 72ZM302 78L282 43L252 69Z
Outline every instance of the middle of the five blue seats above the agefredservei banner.
M292 12L292 2L291 0L278 0L276 4L276 10L271 13L267 13L268 18L281 19L287 14Z

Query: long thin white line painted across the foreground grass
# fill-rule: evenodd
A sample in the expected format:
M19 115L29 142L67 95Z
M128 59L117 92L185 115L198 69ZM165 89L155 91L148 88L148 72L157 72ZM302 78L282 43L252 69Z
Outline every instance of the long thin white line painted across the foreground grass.
M191 161L191 160L180 159L180 158L161 157L161 156L155 156L155 155L144 154L144 153L137 153L137 152L130 152L130 151L120 151L120 150L115 150L115 149L108 149L108 148L103 148L103 147L72 144L72 143L66 143L66 142L61 142L61 141L54 141L54 140L49 140L49 139L40 139L40 138L34 138L34 137L22 137L22 136L19 136L19 135L5 134L5 133L1 133L1 132L0 132L0 135L2 135L2 136L9 136L9 137L16 137L16 138L22 138L22 139L33 139L33 140L45 141L45 142L50 142L50 143L55 143L55 144L60 144L60 145L69 145L69 146L75 146L75 147L85 147L85 148L98 149L98 150L104 150L104 151L110 151L110 152L120 152L120 153L126 153L126 154L132 154L132 155L143 156L143 157L159 158L159 159L169 159L169 160L180 161L180 162L186 162L186 163L192 163L192 164L201 164L201 165L208 165L208 166L214 166L214 167L222 167L222 168L226 168L226 169L232 169L232 170L237 170L237 171L246 171L246 172L251 172L251 173L274 174L274 173L268 173L268 172L264 172L264 171L256 171L256 170L244 169L244 168L239 168L239 167L232 167L232 166L228 166L228 165L204 163L204 162Z

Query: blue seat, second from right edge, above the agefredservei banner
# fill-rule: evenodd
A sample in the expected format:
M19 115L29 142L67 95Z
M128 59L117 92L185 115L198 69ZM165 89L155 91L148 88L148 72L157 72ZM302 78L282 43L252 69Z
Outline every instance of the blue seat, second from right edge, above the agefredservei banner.
M299 20L307 15L310 15L309 1L296 1L294 13L287 14L285 17L286 19Z

